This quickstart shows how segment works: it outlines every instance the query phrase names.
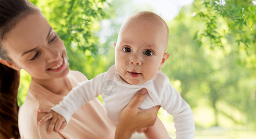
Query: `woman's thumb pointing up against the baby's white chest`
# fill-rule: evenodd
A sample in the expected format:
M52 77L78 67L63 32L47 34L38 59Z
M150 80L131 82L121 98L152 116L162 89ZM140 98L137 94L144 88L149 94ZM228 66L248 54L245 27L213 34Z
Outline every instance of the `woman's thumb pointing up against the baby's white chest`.
M142 88L138 92L140 92L140 93L136 93L134 95L132 100L128 103L128 107L133 107L133 108L136 107L136 108L138 108L141 105L141 102L144 101L144 99L146 97L146 94L147 94L147 89L146 88Z

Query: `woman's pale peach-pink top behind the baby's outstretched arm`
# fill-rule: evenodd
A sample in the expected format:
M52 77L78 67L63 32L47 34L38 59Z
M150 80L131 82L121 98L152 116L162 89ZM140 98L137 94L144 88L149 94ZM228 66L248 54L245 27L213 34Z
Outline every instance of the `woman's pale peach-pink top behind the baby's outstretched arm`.
M87 80L78 71L68 74L72 87L78 82ZM38 113L40 108L51 108L63 100L63 95L50 92L40 84L32 82L26 101L19 109L19 132L21 139L114 139L115 125L105 114L105 109L98 99L80 107L70 119L63 131L48 134L50 120L44 125L38 125L45 114Z

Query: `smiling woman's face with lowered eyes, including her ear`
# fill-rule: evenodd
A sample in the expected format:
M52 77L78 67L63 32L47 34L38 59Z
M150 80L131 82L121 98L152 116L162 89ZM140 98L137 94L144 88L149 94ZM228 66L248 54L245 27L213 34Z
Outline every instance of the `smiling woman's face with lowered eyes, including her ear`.
M69 72L66 49L42 13L21 19L3 41L10 67L26 70L33 79L64 77Z

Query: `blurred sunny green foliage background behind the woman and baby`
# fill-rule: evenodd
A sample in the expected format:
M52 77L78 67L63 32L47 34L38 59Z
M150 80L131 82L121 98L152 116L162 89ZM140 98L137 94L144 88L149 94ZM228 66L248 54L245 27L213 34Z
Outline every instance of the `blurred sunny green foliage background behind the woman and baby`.
M169 26L162 71L194 113L195 139L256 139L255 0L30 0L62 38L71 70L88 79L115 63L122 21L152 11ZM21 70L19 106L30 76ZM101 100L101 97L98 97ZM175 138L173 117L159 117Z

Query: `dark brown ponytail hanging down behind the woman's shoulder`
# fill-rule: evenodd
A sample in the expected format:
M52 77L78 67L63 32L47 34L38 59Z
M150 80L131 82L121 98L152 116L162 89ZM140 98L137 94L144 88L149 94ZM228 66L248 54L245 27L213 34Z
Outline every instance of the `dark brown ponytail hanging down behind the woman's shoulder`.
M0 72L0 139L19 139L19 73L3 64Z

